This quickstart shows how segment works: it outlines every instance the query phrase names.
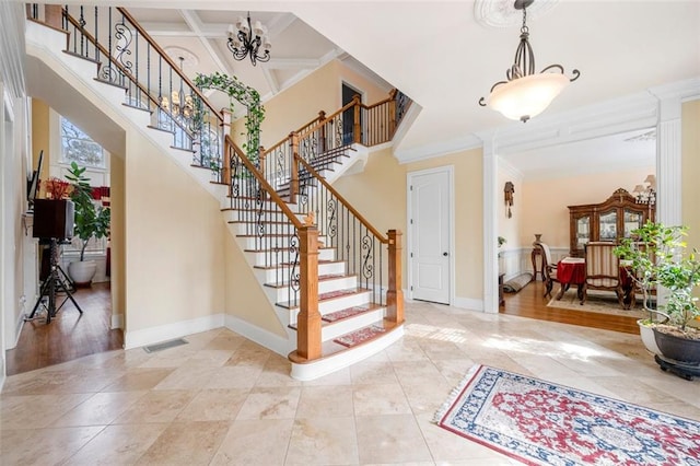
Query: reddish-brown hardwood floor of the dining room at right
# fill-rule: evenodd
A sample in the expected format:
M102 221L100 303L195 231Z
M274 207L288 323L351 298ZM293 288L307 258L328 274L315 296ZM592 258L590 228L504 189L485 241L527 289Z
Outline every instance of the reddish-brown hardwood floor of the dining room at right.
M517 293L505 293L505 305L501 306L500 313L626 334L639 334L637 317L547 307L549 296L542 298L544 293L545 283L542 281L530 281Z

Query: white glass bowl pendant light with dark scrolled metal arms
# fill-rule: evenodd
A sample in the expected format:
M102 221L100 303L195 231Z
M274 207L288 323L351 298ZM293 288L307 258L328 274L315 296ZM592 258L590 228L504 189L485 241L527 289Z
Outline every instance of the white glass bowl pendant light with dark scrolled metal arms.
M487 105L510 119L525 123L539 115L571 81L579 79L579 70L573 78L564 75L561 65L550 65L535 73L535 54L529 45L527 28L527 7L535 0L515 0L515 9L523 10L521 43L515 50L515 63L505 71L508 81L499 81L491 88L488 100L481 97L479 105Z

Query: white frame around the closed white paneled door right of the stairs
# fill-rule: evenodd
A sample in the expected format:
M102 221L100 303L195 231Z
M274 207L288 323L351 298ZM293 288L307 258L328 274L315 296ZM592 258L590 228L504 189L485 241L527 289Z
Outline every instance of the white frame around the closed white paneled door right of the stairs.
M413 177L421 175L431 175L435 173L447 173L447 194L450 199L450 206L447 206L447 213L450 215L450 226L447 228L447 235L450 236L450 290L447 292L448 304L455 303L455 190L454 190L454 165L442 165L435 168L417 170L406 173L406 276L408 277L406 283L406 290L404 290L404 296L408 296L409 300L413 300L413 257L411 257L413 245L413 229L411 228L411 218L413 217L413 207L411 205L411 184Z

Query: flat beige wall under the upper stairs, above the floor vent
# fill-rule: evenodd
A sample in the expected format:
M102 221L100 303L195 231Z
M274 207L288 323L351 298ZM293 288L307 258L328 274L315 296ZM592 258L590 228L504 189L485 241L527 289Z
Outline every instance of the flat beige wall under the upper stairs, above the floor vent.
M125 165L127 330L224 310L219 202L140 131Z

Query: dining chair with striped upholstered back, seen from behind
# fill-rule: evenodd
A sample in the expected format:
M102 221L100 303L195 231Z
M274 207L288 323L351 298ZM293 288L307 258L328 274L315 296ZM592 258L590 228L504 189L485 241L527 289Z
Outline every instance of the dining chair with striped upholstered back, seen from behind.
M583 283L581 304L586 302L588 290L606 290L614 291L620 307L625 307L619 259L612 254L615 246L616 243L603 241L590 242L585 246L586 280Z

